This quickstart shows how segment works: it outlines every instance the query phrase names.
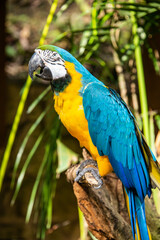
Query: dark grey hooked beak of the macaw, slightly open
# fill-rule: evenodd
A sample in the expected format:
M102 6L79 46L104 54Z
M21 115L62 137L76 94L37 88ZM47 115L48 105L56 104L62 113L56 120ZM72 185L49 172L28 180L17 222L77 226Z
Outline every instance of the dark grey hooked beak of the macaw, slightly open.
M52 73L50 69L45 66L45 63L41 59L41 57L37 54L34 53L29 61L29 76L33 80L33 73L40 68L40 73L36 74L37 77L42 78L46 81L52 81Z

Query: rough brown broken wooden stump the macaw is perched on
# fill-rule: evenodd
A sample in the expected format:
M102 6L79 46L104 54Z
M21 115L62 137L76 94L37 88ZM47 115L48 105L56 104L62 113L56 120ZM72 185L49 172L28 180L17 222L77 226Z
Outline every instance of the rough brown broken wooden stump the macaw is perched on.
M114 173L109 174L103 186L95 189L86 183L95 184L91 174L86 174L83 184L73 182L77 168L74 165L68 169L67 178L73 183L78 205L92 234L100 240L133 239L120 180Z

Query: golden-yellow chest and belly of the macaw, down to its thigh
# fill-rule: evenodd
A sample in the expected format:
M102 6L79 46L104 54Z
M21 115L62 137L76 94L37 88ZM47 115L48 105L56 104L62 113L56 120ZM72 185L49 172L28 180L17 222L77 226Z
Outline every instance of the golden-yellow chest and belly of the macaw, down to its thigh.
M82 75L75 70L73 63L65 62L65 65L72 80L63 92L54 95L55 110L70 134L78 139L80 146L85 147L91 153L92 157L97 160L100 174L106 175L112 171L112 167L108 157L99 156L98 150L93 145L89 135L82 97L79 94L79 90L82 87Z

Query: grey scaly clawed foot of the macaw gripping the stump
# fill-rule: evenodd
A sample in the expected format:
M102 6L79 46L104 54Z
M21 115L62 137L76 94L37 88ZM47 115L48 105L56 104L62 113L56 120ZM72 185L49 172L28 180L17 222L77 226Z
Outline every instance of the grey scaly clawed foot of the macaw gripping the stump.
M87 167L87 166L93 166L93 167ZM93 159L85 160L81 163L79 166L77 172L76 172L76 178L75 182L81 182L82 178L85 177L86 173L90 173L93 178L96 180L97 184L91 184L94 188L98 189L102 186L103 181L101 179L101 176L99 175L98 171L98 165L97 162Z

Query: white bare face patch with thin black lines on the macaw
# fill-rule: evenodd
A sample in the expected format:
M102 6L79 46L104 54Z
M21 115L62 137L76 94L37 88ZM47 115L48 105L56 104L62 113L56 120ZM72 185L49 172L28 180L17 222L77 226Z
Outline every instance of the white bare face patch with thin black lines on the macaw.
M57 52L41 49L35 49L35 52L40 56L45 66L50 69L53 80L66 76L67 70L64 60Z

